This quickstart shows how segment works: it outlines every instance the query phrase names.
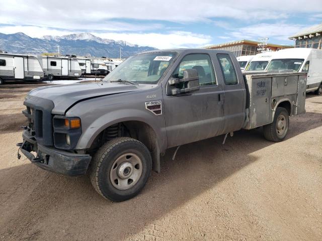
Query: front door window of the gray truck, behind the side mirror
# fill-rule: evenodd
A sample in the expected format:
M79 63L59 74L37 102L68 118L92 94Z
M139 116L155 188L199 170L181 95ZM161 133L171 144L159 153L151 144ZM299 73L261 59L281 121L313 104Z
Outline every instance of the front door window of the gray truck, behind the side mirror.
M200 86L217 84L212 63L208 54L186 55L181 60L175 72L172 74L172 77L182 79L183 71L186 69L197 70Z

